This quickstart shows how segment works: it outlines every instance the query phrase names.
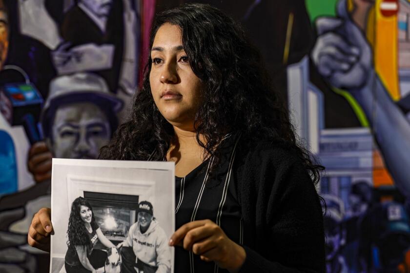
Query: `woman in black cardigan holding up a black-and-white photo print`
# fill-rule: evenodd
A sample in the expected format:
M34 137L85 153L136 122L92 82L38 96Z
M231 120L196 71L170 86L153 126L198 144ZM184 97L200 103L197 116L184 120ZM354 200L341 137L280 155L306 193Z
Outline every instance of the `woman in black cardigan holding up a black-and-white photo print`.
M100 157L175 162L175 272L324 272L320 166L242 28L186 4L158 14L150 46L129 121ZM48 249L51 230L42 209L29 243Z

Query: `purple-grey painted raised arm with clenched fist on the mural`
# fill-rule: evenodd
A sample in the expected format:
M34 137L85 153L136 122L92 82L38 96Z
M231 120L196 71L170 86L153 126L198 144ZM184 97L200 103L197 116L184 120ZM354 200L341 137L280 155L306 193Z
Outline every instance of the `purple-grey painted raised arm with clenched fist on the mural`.
M340 18L317 20L318 39L311 59L319 73L347 90L363 108L372 133L399 190L410 196L410 124L377 76L364 33L351 20L346 0L338 3Z

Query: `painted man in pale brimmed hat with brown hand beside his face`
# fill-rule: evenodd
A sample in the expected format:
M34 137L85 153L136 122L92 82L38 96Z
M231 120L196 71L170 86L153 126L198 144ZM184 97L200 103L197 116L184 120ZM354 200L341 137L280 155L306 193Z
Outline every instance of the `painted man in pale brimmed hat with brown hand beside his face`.
M76 73L55 78L41 114L45 142L29 151L28 167L37 182L51 177L51 158L96 159L118 126L123 101L103 78Z

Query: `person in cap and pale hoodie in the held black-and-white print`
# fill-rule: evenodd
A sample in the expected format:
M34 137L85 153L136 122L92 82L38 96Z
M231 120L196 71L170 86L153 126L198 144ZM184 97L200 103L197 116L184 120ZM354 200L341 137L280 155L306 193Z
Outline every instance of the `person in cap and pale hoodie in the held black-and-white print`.
M164 230L154 217L152 204L138 204L138 218L122 243L122 273L169 273L171 250Z

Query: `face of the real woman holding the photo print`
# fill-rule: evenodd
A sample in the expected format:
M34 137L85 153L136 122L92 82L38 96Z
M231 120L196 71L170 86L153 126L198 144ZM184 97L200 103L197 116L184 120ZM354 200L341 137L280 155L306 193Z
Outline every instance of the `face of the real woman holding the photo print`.
M189 65L178 26L166 23L158 29L151 59L149 82L158 110L173 126L193 131L204 85Z

